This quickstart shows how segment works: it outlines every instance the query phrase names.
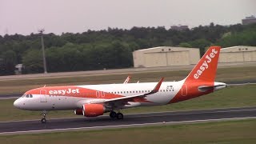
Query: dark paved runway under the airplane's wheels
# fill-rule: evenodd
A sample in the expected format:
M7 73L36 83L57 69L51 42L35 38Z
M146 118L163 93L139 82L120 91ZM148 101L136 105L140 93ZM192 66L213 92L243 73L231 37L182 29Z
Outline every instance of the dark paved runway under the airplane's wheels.
M45 124L42 124L40 122L41 118L38 117L38 120L0 122L0 134L26 134L57 130L95 130L111 127L207 122L235 118L256 118L256 106L215 110L125 114L122 120L111 119L107 115L97 118L56 118L48 119Z

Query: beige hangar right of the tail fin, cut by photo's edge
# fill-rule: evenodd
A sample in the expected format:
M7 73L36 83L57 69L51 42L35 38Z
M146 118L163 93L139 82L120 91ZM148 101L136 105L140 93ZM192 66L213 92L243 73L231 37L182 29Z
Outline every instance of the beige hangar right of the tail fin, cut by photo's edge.
M218 62L256 62L256 46L222 48Z

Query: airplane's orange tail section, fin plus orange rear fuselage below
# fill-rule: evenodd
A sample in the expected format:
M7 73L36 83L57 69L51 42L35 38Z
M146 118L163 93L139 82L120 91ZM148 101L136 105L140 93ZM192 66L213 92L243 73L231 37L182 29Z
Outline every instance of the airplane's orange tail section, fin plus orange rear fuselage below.
M220 46L210 46L206 54L184 79L181 90L169 103L185 101L214 91L214 79L220 50Z

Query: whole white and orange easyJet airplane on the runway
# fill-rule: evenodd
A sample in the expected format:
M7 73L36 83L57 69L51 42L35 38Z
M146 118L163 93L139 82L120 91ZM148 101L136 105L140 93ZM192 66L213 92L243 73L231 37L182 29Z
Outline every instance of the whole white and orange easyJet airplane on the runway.
M42 123L49 110L74 110L74 114L85 117L110 112L110 118L122 119L122 109L181 102L225 88L226 83L214 82L220 50L219 46L211 46L190 74L178 82L163 82L161 78L159 82L45 86L26 91L14 106L42 110Z

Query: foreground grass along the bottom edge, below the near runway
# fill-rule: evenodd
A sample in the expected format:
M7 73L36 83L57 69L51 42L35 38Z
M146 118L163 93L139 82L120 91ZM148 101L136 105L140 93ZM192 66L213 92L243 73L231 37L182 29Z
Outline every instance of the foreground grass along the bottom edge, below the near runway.
M256 119L0 136L0 143L256 143Z

